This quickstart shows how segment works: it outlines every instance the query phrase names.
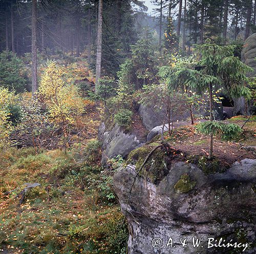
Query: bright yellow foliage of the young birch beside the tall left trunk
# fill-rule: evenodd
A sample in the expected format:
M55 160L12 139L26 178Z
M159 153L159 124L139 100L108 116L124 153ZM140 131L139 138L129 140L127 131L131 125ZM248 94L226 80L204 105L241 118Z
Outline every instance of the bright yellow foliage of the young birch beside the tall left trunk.
M74 124L84 112L83 98L72 79L55 61L49 61L41 76L38 97L44 101L49 120L55 125Z

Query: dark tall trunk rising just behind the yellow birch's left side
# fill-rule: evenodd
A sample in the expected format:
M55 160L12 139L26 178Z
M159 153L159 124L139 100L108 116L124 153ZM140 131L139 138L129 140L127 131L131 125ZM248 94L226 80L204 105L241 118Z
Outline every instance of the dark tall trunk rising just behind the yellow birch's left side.
M36 0L32 0L32 95L37 90Z

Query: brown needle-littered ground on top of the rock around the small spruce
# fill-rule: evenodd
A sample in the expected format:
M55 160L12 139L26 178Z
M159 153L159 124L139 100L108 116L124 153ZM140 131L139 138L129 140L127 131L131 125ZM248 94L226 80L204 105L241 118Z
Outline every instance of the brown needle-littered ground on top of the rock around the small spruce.
M245 158L256 159L255 150L247 149L248 146L256 146L256 116L245 123L247 119L248 117L236 116L225 121L241 127L244 125L243 133L236 140L222 141L219 137L214 137L214 156L227 167ZM165 133L170 146L183 155L183 158L179 157L177 160L186 160L189 156L208 156L208 136L197 132L193 125L182 125L179 123L174 128L172 136Z

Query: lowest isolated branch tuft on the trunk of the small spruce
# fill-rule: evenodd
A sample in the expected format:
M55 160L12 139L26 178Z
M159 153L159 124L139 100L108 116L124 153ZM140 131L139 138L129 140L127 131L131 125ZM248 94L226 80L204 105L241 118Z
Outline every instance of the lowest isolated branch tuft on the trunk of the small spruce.
M242 129L237 124L223 123L217 121L206 121L197 125L197 130L204 134L221 136L223 140L232 140L242 133Z

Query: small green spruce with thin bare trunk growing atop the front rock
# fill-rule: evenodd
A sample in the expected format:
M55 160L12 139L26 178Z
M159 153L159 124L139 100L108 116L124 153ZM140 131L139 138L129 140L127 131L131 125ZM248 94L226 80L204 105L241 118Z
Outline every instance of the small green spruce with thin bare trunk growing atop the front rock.
M212 158L213 135L221 135L224 139L236 137L241 128L235 124L217 122L213 115L212 93L217 87L222 87L230 97L250 96L250 90L244 85L248 81L246 72L251 68L234 57L234 46L220 46L212 43L199 45L197 52L201 55L197 66L176 66L167 75L169 89L177 89L186 85L191 89L209 92L209 114L207 122L198 125L198 130L209 135L209 158Z

